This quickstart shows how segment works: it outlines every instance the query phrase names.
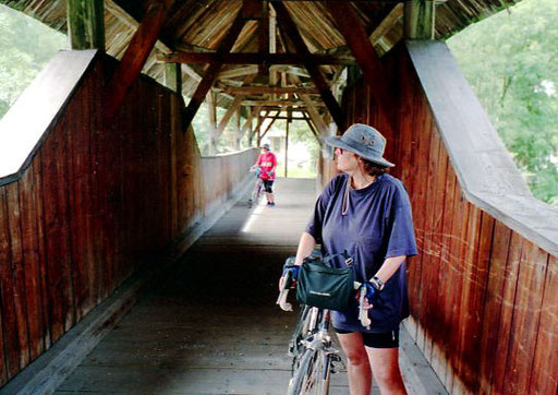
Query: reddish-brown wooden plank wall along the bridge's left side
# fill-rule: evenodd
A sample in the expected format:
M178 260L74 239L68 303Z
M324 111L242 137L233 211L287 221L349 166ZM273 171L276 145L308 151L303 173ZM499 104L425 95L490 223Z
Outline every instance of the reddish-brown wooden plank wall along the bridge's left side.
M247 151L217 159L226 171L204 172L192 130L182 132L182 97L144 76L105 128L100 95L114 68L95 58L31 166L0 187L0 386L146 255L172 246L255 160Z

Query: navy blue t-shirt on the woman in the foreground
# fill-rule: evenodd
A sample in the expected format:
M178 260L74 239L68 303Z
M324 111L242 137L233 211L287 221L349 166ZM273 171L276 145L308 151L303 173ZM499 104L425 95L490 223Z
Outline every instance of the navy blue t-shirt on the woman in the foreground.
M329 182L316 202L306 232L322 244L324 254L347 250L354 259L355 279L365 282L387 258L416 254L411 203L402 182L389 175L378 176L375 182L360 190L352 189L349 181L348 175L339 175ZM343 200L347 201L344 214ZM341 258L333 259L332 265L347 267ZM401 320L409 316L404 263L386 283L381 306L375 306L368 315L369 330L359 321L355 300L348 311L332 312L333 326L373 333L398 328Z

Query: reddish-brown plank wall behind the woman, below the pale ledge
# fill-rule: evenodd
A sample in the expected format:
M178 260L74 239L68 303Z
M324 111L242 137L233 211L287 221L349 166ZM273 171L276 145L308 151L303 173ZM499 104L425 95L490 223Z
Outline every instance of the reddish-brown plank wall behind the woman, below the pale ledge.
M420 248L411 335L450 393L556 394L557 256L464 200L407 48L384 61L400 100L386 157L411 196ZM348 124L388 130L362 79L342 107Z

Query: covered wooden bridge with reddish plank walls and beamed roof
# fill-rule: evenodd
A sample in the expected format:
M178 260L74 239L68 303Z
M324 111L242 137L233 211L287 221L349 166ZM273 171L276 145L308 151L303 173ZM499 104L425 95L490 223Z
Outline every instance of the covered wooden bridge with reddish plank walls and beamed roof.
M254 215L235 207L221 223L228 232L215 228L189 250L245 194L256 155L201 156L192 120L206 100L210 153L239 113L236 140L254 144L266 118L302 118L320 144L353 122L380 130L414 211L421 253L409 265L412 318L404 325L423 358L450 393L556 394L558 211L532 196L444 44L513 2L0 1L68 32L73 48L0 121L0 391L51 392L65 381L61 392L280 392L277 376L263 378L266 363L286 366L274 347L288 328L264 306L272 309L272 283L308 206L278 207L277 220L298 213L281 227L293 229L283 243L279 236L270 242L267 228L231 236ZM227 108L223 118L216 119L216 106ZM333 172L330 159L324 147L318 185ZM294 182L280 181L286 189ZM313 184L290 185L310 193L311 205ZM231 256L242 265L223 265ZM218 290L208 292L201 274L216 273ZM175 364L165 382L180 385L170 390L106 385L110 370L95 376L80 363L89 350L95 362L99 339L146 287L140 310L119 324L123 332L107 336L112 361L142 331L147 337L137 343L157 354L179 338L192 346L185 338L206 328L216 334L203 343L213 352L232 352L226 335L259 339L251 349L260 370L246 368L251 375L230 384L239 375L221 358L207 379ZM149 295L174 306L159 309ZM251 296L252 309L236 313L222 302ZM163 322L153 318L159 310L178 330L146 324L144 316ZM223 335L208 319L215 314L231 327L243 322L247 334ZM239 354L227 361L242 370ZM98 386L72 387L66 380L77 366ZM153 374L146 367L129 369L122 382L143 383ZM201 381L216 384L189 388Z

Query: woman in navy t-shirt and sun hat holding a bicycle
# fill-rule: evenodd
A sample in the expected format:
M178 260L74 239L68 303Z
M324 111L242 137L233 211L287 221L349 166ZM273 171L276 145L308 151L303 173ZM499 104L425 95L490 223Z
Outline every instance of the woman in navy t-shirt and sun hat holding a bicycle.
M401 181L387 173L395 165L383 157L386 139L374 128L355 123L326 143L335 147L342 175L318 198L295 263L302 264L316 243L324 254L349 252L355 279L369 280L380 296L367 306L369 327L361 325L356 301L348 311L332 312L349 361L351 394L369 394L373 375L383 394L404 394L399 323L409 316L405 258L416 254L409 196ZM333 265L345 267L342 259Z

